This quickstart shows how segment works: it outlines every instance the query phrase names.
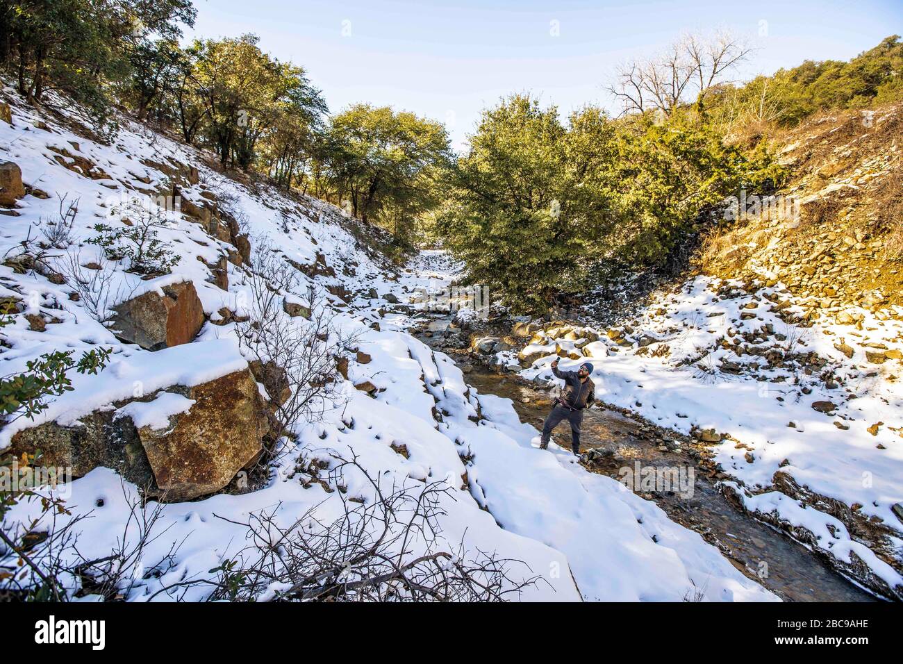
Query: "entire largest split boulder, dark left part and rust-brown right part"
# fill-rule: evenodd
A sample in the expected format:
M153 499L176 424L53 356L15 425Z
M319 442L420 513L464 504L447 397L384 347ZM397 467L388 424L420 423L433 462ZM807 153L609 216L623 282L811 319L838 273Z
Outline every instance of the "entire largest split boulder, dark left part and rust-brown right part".
M71 426L50 422L23 429L4 454L40 452L38 464L68 467L75 477L104 466L146 495L191 500L231 482L263 452L261 439L269 431L249 369L112 406Z

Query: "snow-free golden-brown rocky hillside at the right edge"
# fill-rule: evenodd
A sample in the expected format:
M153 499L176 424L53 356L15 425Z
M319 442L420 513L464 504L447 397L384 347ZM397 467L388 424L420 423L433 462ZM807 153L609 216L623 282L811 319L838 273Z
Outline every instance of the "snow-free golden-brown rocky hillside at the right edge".
M789 184L758 206L749 192L703 271L780 281L810 311L903 304L903 107L816 116L776 143Z

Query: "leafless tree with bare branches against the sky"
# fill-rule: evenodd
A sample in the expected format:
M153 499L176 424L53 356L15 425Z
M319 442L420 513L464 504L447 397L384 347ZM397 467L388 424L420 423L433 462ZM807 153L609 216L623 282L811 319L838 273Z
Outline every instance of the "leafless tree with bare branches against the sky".
M609 88L624 113L675 108L701 100L726 73L749 56L751 49L730 33L704 38L687 34L647 61L631 61L619 67L617 81Z

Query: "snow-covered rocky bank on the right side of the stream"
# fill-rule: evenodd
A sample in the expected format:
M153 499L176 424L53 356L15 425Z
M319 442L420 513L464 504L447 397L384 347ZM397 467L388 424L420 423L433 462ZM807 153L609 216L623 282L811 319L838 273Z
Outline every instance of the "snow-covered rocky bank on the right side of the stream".
M600 399L684 434L713 435L714 461L749 510L806 528L817 547L847 563L854 554L891 588L903 585L869 541L773 487L775 473L787 473L880 519L897 531L886 548L903 558L894 513L903 504L903 311L853 307L811 327L785 323L780 311L803 311L780 284L750 294L739 282L699 276L617 328L536 335L524 353L540 356L517 369L554 381L556 352L575 358L562 360L565 369L590 359Z

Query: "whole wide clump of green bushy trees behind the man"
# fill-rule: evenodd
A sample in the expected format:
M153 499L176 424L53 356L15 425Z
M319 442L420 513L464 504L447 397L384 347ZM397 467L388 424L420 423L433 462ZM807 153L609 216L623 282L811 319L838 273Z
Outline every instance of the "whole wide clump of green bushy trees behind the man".
M435 229L470 282L539 313L583 290L600 261L665 262L703 210L781 174L764 148L725 145L692 109L656 122L585 108L565 126L554 107L515 96L484 114Z

